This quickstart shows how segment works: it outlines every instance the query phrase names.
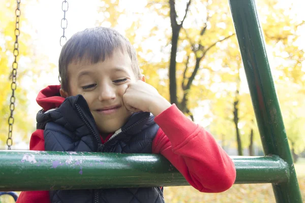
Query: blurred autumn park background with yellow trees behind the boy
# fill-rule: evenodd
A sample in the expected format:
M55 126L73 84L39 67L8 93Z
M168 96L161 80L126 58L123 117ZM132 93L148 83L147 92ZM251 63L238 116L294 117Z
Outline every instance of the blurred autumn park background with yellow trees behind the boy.
M267 54L305 199L305 3L257 0ZM38 92L58 82L60 37L117 29L134 45L146 82L214 134L229 155L264 155L227 0L22 0L12 149L28 150ZM16 1L0 0L0 149L7 149ZM175 6L171 8L171 5ZM175 18L170 18L170 10ZM177 48L175 49L175 45ZM170 62L170 58L176 60ZM169 76L169 69L176 74ZM169 88L169 84L175 88ZM271 184L220 194L167 187L166 202L275 202ZM0 197L0 202L11 202Z

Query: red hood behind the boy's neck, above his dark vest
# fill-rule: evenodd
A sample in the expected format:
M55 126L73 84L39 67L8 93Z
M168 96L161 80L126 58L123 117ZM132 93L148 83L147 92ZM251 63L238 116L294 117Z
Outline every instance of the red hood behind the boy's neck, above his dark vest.
M36 101L44 111L58 108L64 102L65 98L60 96L59 89L60 85L50 85L38 93Z

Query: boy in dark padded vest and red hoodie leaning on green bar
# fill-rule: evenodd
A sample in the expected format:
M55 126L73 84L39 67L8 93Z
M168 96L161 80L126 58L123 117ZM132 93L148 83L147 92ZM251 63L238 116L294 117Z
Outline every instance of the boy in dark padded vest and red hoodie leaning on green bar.
M30 150L159 153L201 192L235 181L230 157L201 126L145 83L136 52L117 31L76 33L59 56L61 85L37 96L43 108ZM149 113L150 112L150 113ZM164 202L163 190L119 188L21 192L24 202Z

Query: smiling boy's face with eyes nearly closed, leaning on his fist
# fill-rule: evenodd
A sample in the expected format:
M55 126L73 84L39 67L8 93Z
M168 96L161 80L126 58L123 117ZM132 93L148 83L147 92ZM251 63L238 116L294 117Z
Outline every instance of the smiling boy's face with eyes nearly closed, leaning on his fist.
M105 61L92 64L86 60L68 65L69 93L82 94L86 99L100 133L110 133L122 127L131 116L123 103L123 94L131 81L137 81L128 54L114 51Z

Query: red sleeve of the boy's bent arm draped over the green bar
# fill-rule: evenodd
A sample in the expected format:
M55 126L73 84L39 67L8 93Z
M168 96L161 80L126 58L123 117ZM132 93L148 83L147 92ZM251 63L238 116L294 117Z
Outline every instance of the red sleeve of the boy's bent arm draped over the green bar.
M175 105L156 116L160 126L153 153L162 154L201 192L223 192L236 178L228 154L203 127L188 119Z

